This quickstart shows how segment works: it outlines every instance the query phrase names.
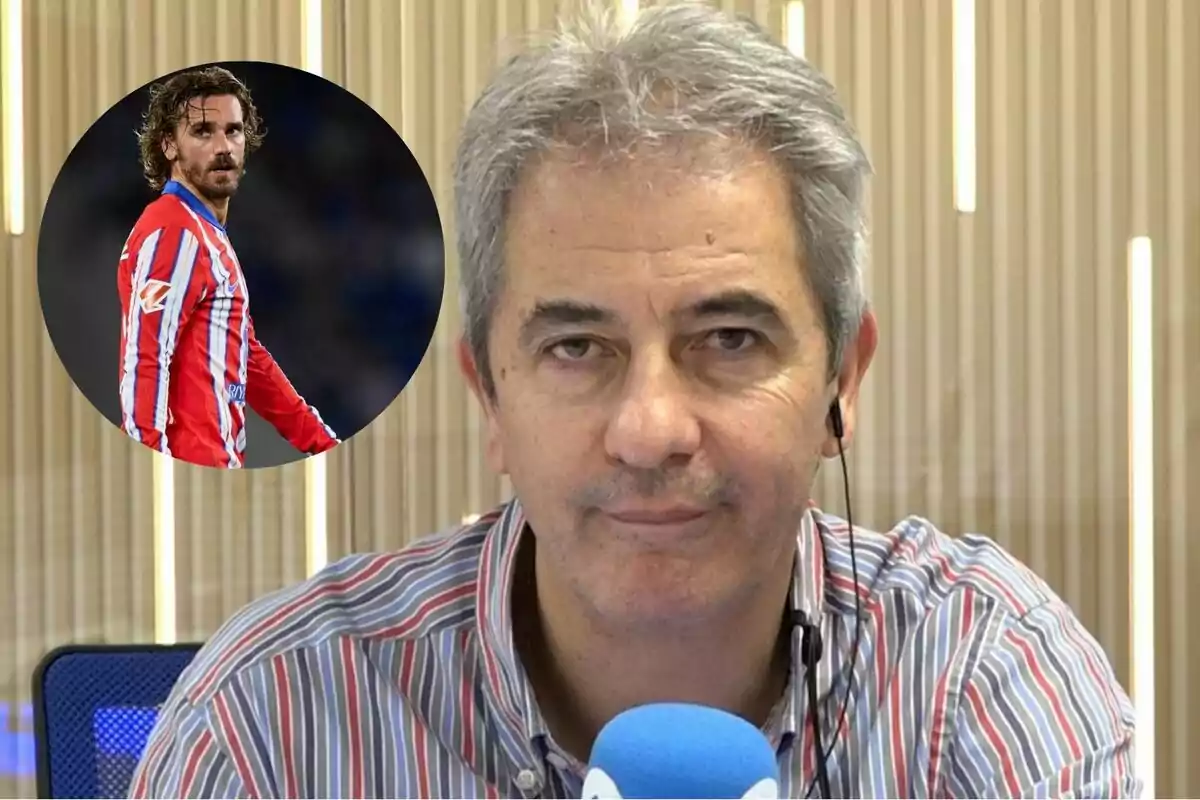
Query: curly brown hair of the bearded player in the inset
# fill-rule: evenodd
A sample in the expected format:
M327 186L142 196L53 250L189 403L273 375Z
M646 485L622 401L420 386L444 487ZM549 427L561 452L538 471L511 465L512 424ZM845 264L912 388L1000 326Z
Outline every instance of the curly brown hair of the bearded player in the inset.
M162 151L162 143L175 136L175 127L184 118L188 103L217 95L232 95L241 103L246 156L263 144L263 137L266 136L263 120L251 100L250 89L236 76L216 66L172 76L150 88L150 106L142 116L142 127L138 130L142 174L156 192L170 180L170 161Z

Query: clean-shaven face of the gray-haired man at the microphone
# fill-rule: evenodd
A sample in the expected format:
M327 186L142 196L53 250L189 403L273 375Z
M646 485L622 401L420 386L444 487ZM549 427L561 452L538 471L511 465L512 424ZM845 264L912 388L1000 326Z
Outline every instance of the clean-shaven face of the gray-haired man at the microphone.
M512 199L490 458L539 579L610 624L708 618L790 570L828 445L786 182L767 158L732 163L548 158Z

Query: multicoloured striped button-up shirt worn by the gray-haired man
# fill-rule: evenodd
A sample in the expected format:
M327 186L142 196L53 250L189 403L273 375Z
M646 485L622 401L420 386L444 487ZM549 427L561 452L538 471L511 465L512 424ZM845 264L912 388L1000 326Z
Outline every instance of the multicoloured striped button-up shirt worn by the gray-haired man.
M547 732L512 646L524 529L512 501L238 613L164 704L132 796L578 798L586 768ZM826 643L834 794L1138 795L1130 703L1045 583L990 540L919 518L856 528L856 583L846 534L810 510L793 583ZM860 654L834 736L854 591ZM815 775L803 667L764 734L784 796L803 796Z

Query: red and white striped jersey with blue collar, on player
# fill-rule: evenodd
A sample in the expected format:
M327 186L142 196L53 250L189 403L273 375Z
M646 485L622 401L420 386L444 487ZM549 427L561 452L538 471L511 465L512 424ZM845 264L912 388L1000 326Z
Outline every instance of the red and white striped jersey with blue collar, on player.
M121 425L205 467L240 468L250 403L305 453L337 444L259 343L250 294L216 216L172 181L121 252Z

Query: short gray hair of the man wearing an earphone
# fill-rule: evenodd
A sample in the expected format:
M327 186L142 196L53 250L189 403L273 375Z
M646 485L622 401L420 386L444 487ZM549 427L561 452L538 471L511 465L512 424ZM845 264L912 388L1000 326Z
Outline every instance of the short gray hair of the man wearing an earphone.
M664 90L670 102L661 102ZM614 151L692 136L761 148L786 174L829 378L838 373L866 311L871 168L832 84L754 22L704 4L646 8L628 30L592 6L576 25L502 66L462 131L460 293L467 344L490 397L487 336L503 285L509 198L523 168L563 145Z

